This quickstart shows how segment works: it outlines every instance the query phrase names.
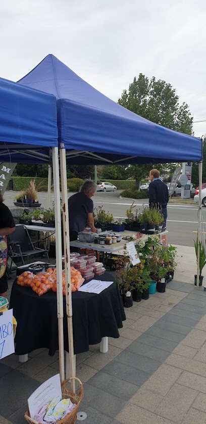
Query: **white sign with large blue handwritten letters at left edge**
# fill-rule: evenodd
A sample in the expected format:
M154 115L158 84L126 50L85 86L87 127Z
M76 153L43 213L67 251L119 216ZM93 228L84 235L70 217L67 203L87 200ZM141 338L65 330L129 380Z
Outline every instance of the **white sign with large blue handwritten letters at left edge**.
M14 353L13 309L0 315L0 359Z

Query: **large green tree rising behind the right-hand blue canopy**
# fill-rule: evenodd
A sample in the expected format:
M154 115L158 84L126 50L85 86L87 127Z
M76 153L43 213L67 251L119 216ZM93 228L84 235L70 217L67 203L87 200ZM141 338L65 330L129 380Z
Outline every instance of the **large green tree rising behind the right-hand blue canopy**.
M192 134L192 116L188 105L184 102L179 104L179 97L171 84L163 80L150 80L143 74L139 74L138 79L134 78L129 85L129 89L124 90L118 103L132 112L176 131ZM136 186L142 178L148 176L148 171L152 167L157 167L161 172L170 166L165 165L131 165L130 176L136 178Z

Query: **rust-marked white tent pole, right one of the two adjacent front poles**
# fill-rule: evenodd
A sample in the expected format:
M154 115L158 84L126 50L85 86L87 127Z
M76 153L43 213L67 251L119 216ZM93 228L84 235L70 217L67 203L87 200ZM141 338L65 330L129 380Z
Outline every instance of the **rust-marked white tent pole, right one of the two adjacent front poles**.
M70 240L69 240L69 209L67 197L67 165L66 150L64 145L60 146L60 170L62 183L62 204L63 204L63 232L64 232L64 255L65 255L65 279L66 279L66 308L68 323L68 341L69 341L69 362L70 377L75 376L74 365L74 344L73 344L73 326L72 326L72 292L71 292L71 273L70 273ZM72 391L75 393L75 380L71 381Z

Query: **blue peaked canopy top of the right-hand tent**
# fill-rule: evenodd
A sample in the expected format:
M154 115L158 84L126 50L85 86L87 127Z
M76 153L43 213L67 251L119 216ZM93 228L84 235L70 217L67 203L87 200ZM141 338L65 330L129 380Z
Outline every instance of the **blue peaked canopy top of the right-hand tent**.
M201 161L199 138L157 125L113 102L48 55L18 81L57 98L59 143L67 163Z

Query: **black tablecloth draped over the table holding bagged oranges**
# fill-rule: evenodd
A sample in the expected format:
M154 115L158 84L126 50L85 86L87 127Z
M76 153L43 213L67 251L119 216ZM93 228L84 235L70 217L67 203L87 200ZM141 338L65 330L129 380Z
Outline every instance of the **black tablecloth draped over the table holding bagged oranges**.
M100 343L102 337L118 338L118 328L126 319L115 278L105 273L96 279L114 281L99 295L72 293L74 353L86 352L89 345ZM10 308L17 319L15 353L24 355L35 349L47 348L49 355L59 349L57 294L49 291L37 296L30 287L14 281ZM64 296L64 348L68 351L66 301Z

